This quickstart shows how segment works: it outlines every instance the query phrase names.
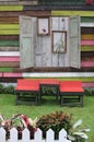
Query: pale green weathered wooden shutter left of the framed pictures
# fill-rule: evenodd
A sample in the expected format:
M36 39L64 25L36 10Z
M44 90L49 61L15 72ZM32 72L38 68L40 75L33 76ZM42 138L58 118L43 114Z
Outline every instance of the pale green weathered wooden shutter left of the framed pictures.
M30 16L20 16L20 67L33 67L33 22Z

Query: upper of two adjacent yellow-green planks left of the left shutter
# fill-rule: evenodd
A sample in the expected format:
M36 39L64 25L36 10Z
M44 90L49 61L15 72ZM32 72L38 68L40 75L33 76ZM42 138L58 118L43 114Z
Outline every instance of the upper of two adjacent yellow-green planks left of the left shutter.
M20 24L0 24L0 29L19 29Z

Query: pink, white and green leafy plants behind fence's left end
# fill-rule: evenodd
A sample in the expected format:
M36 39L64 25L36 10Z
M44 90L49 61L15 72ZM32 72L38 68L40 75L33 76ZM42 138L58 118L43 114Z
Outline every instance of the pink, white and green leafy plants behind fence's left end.
M36 121L36 120L35 120ZM23 114L17 114L11 117L10 119L5 119L2 115L0 115L0 127L3 127L5 130L5 139L10 138L11 128L16 128L19 139L22 139L22 131L27 128L31 133L31 139L34 139L34 132L36 131L36 126L34 120L27 118Z

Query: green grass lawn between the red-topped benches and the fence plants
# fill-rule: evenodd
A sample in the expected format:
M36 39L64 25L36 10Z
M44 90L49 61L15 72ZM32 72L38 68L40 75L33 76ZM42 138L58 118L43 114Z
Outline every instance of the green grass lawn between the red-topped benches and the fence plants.
M55 97L43 97L40 106L35 105L17 105L15 106L14 95L0 94L0 113L5 118L11 118L14 114L24 114L27 117L35 118L56 110L62 110L67 114L73 114L72 122L78 119L83 120L84 126L89 126L91 132L87 133L87 142L94 142L94 97L84 96L83 107L60 107L59 103L56 102Z

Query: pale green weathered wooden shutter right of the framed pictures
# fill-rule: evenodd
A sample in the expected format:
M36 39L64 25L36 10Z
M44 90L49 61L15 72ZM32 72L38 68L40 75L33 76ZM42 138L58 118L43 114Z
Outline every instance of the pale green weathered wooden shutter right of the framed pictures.
M71 16L69 21L70 36L70 67L80 68L81 47L80 47L80 16Z

